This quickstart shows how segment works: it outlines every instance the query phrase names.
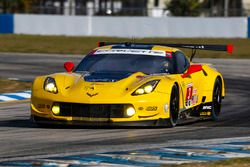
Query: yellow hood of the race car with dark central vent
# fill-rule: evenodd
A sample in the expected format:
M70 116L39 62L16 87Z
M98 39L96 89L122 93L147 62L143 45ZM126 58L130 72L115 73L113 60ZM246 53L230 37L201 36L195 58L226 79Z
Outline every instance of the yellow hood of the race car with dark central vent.
M34 86L33 89L40 89L46 93L43 85L47 77L55 79L58 93L54 95L62 97L65 101L69 99L78 99L77 101L79 101L82 99L82 101L86 102L98 102L99 99L100 102L103 102L105 99L114 99L115 101L115 99L131 96L143 84L152 80L160 80L163 76L146 75L142 72L116 73L115 75L100 73L87 75L80 73L56 73L38 77L34 81L34 85L40 86ZM53 95L53 93L49 93L48 95Z

